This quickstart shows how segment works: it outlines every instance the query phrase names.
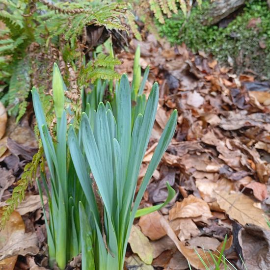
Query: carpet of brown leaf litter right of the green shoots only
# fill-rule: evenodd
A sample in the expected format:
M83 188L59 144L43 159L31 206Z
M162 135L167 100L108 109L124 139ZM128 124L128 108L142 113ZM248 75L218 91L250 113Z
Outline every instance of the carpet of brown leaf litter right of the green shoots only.
M211 265L208 249L218 254L227 235L224 254L230 263L241 266L241 254L243 261L252 257L257 267L262 258L252 255L251 244L248 251L243 250L248 240L245 237L240 244L233 227L237 223L245 232L251 226L247 224L252 224L270 231L265 218L270 190L268 82L230 74L229 68L220 67L212 57L192 54L184 44L170 47L151 34L145 41L133 39L131 52L138 44L143 48L142 68L150 66L146 93L154 81L160 84L151 145L158 141L171 110L177 108L179 113L175 136L158 168L160 177L151 180L142 205L165 200L165 181L177 196L167 209L137 221L153 245L152 266L189 269L189 261L195 269L205 269L194 248ZM118 57L123 65L117 70L131 77L128 67L133 54L123 52ZM147 166L148 160L144 162ZM262 243L269 241L269 234L261 239ZM270 262L263 261L261 269L270 268Z

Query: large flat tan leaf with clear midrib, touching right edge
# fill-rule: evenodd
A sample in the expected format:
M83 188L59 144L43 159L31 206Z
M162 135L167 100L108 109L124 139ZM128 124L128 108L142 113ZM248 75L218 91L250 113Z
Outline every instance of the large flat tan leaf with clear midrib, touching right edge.
M217 203L227 215L237 220L243 226L247 223L268 229L264 218L264 211L254 207L254 201L242 193L217 193Z

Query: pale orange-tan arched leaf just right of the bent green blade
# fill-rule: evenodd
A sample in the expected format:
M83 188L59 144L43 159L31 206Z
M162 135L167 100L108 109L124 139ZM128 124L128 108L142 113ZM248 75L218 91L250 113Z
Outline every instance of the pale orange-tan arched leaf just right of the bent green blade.
M182 202L176 202L175 206L169 211L169 220L175 218L197 217L202 221L211 217L211 211L208 204L193 195L184 198Z

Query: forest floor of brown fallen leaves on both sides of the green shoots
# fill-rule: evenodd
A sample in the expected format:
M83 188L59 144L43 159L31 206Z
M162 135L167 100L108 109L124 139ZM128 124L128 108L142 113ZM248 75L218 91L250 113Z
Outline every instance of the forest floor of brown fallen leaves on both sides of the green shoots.
M207 262L211 258L204 250L218 255L226 237L224 254L236 269L245 269L241 258L248 270L270 269L266 220L270 206L270 83L236 76L203 52L192 54L185 45L170 47L153 35L142 42L132 40L130 52L117 55L123 63L116 70L127 73L131 80L137 44L142 69L150 66L146 93L154 81L160 84L156 122L138 186L168 115L175 108L179 115L175 136L141 205L163 202L166 182L177 193L168 207L135 220L126 268L186 270L189 261L192 269L205 269L196 252ZM24 165L37 151L37 142L31 104L19 124L0 109L3 206ZM0 261L0 269L47 269L46 229L35 183L12 217L16 215L22 216L22 222L11 219L1 232L6 241L0 246L0 260L18 250L21 255ZM68 269L80 269L80 259Z

